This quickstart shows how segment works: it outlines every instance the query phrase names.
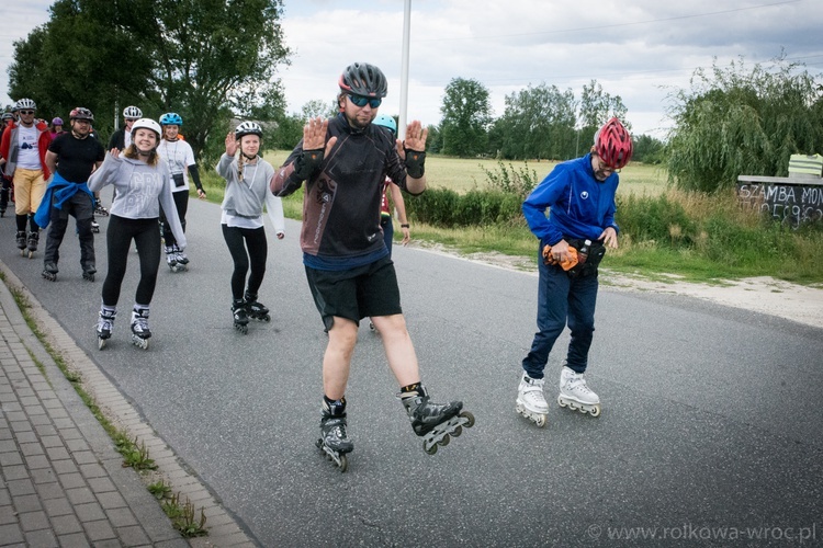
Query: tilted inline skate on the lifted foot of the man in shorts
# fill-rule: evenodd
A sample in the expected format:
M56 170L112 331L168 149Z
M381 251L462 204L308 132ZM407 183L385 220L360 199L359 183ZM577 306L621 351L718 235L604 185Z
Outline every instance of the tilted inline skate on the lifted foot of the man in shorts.
M474 415L463 409L462 401L432 403L422 385L412 385L398 395L415 434L422 436L422 449L429 455L437 453L438 445L449 445L451 437L463 433L463 426L474 426Z

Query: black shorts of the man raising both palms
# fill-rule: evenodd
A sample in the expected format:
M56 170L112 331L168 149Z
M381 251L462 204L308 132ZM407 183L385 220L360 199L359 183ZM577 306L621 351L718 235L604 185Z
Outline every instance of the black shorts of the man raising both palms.
M306 278L326 330L335 316L360 324L362 318L403 313L394 263L387 256L347 271L306 266Z

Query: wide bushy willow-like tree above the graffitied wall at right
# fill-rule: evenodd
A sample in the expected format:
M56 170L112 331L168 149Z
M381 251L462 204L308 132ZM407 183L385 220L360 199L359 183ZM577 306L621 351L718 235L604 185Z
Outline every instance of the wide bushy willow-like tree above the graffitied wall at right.
M726 69L698 69L691 90L672 99L666 167L686 190L733 187L741 174L786 175L789 156L823 147L823 100L800 64L777 58L770 68L743 59Z

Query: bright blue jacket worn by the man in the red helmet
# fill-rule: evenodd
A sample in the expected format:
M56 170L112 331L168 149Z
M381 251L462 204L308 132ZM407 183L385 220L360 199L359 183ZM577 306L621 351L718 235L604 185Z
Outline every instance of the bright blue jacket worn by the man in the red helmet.
M595 241L608 227L619 230L615 224L619 182L617 173L604 182L595 179L590 153L559 163L526 198L523 216L543 244L568 238Z

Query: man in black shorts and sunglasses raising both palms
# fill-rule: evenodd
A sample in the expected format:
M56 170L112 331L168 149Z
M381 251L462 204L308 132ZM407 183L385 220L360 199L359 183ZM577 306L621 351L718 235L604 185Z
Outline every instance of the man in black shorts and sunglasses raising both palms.
M345 470L346 454L353 449L346 431L346 387L361 319L371 317L382 334L388 366L399 383L399 397L417 435L440 431L443 423L456 420L463 403L432 403L420 383L394 264L380 230L386 174L412 194L426 190L427 130L419 122L412 122L405 142L397 142L395 148L388 133L372 124L387 91L385 76L377 67L350 65L338 83L339 114L331 119L308 121L303 139L278 170L271 190L284 196L306 184L303 263L328 332L318 447ZM433 453L437 446L431 449Z

